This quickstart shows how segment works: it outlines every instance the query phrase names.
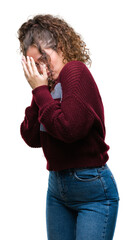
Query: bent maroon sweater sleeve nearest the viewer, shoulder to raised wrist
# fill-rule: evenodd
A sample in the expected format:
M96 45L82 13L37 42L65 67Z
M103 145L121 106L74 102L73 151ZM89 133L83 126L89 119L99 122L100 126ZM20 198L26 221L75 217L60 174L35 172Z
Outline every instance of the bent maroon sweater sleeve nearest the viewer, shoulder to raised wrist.
M83 74L87 71L81 62L65 65L60 74L61 103L52 98L47 86L32 91L39 107L39 121L50 135L66 143L84 138L95 121L95 112L87 97L92 91L91 80Z

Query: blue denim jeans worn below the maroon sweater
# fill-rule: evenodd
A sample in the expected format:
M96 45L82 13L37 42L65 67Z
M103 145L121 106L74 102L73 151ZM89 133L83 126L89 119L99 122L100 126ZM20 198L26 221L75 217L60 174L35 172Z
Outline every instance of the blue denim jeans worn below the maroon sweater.
M107 164L50 171L46 199L48 240L112 240L119 195Z

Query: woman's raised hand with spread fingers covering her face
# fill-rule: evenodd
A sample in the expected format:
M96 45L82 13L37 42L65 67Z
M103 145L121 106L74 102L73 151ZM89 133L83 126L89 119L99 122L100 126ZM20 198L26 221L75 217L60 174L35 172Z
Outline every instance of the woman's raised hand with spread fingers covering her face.
M42 74L40 74L37 70L37 67L35 65L34 59L32 57L27 56L27 61L25 57L22 58L22 66L24 70L25 77L32 87L32 89L35 89L36 87L42 86L42 85L48 85L48 76L46 72L46 66L45 64L42 65Z

